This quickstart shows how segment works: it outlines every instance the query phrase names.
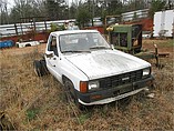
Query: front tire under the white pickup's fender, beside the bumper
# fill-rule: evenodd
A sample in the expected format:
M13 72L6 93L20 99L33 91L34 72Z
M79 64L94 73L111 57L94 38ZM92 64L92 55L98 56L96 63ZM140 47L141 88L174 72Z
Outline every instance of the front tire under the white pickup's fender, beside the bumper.
M73 101L75 103L76 108L79 108L80 110L82 110L83 105L81 103L79 103L79 101L78 101L78 97L75 94L73 83L69 79L65 79L63 81L63 83L64 83L64 88L65 88L66 99L68 100L71 99L70 101Z

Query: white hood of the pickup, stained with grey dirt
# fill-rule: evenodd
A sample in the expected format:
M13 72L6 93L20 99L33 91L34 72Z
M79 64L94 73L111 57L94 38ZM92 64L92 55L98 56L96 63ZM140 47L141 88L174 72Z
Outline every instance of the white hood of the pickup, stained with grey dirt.
M89 80L140 70L151 64L142 59L117 50L100 50L76 53L65 58L81 70Z

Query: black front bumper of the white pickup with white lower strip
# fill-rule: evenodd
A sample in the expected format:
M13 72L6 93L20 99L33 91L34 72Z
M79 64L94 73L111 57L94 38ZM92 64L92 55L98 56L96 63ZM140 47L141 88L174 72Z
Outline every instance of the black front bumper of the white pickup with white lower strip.
M150 78L136 82L119 85L111 89L99 90L95 92L81 93L76 91L76 94L79 102L84 105L104 104L146 90L152 87L153 80L154 78L151 75Z

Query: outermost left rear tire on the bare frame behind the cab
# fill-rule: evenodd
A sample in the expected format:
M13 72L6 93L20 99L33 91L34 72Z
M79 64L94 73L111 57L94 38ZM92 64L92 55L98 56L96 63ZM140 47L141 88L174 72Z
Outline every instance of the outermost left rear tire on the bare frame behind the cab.
M34 60L33 61L33 68L34 68L34 72L38 77L42 77L43 72L42 72L42 64L40 63L40 61Z

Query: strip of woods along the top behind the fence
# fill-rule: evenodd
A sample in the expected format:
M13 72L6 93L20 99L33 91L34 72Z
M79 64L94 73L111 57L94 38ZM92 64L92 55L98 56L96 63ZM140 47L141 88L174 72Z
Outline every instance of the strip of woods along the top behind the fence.
M0 0L0 24L21 22L21 18L44 17L47 20L76 19L79 24L89 22L94 17L101 21L105 16L121 14L127 11L150 9L150 17L155 11L173 8L172 0L13 0L9 8L7 0ZM35 19L41 21L41 19Z

